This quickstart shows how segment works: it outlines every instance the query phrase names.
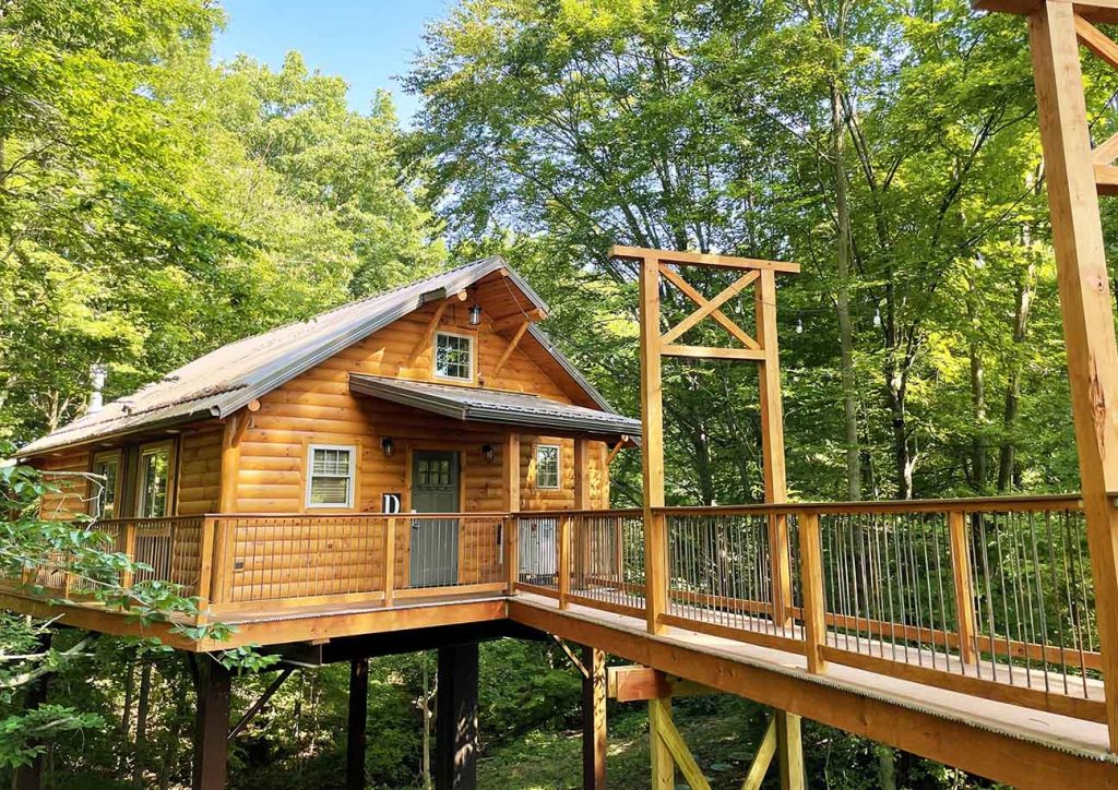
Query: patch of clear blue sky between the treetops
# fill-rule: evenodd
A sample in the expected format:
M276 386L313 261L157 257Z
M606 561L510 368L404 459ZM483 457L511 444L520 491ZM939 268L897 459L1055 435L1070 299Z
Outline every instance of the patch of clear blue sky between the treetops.
M424 23L438 19L452 0L225 0L228 23L214 56L238 54L278 68L291 49L323 74L343 77L349 103L364 111L377 88L392 92L405 125L416 102L400 89L419 50Z

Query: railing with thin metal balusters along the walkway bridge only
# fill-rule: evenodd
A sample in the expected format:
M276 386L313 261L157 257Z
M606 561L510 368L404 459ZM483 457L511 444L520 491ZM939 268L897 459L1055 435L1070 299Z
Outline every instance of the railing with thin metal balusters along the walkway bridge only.
M643 551L639 511L555 516L555 582L522 565L519 587L647 618L646 563L661 562L660 626L798 653L812 672L831 661L1106 720L1076 496L653 513L662 558Z

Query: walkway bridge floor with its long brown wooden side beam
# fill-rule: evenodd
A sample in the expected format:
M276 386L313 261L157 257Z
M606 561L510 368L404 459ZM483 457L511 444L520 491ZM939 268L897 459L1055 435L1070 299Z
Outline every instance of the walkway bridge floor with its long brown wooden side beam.
M795 653L667 627L531 593L509 617L719 691L837 726L1020 788L1118 788L1107 729L1043 711L832 664L809 675Z

